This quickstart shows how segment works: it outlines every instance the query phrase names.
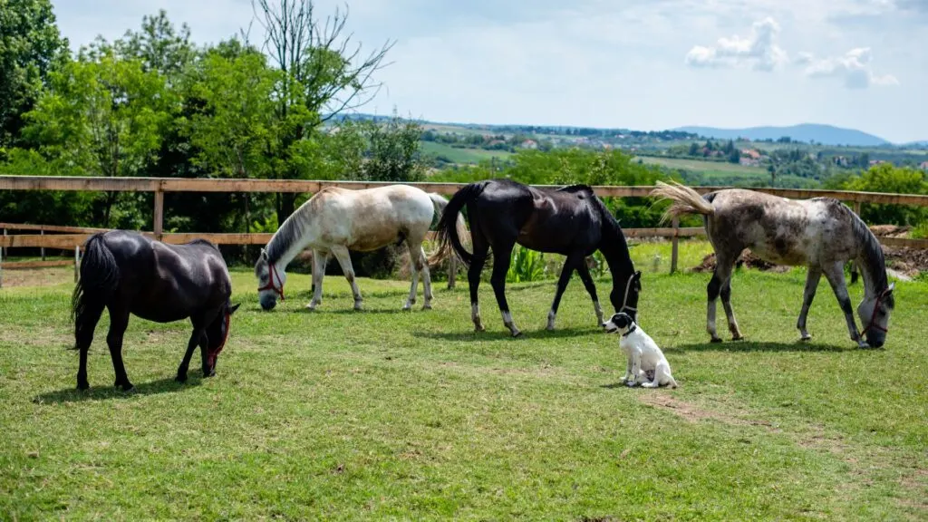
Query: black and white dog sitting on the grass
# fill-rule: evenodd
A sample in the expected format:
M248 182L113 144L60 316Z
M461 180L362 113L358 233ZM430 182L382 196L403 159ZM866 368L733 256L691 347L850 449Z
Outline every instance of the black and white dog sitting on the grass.
M677 387L677 381L670 374L670 363L664 358L664 352L651 339L651 335L635 324L631 316L625 312L617 313L602 323L602 327L607 333L622 333L619 348L628 359L622 382L629 386L641 385L645 388L663 385ZM648 381L649 378L651 382Z

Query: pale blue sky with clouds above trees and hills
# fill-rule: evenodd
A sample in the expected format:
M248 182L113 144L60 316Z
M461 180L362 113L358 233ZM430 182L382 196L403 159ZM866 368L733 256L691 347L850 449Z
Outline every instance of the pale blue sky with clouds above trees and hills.
M276 1L276 0L272 0ZM345 2L316 0L325 18ZM167 11L199 44L251 0L53 0L77 49ZM434 122L663 130L832 124L928 139L928 0L347 0L393 43L362 111ZM264 32L251 25L251 41Z

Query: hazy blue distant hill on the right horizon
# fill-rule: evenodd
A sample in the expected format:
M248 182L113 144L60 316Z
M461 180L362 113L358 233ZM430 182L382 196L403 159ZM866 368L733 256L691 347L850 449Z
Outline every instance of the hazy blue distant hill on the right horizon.
M877 147L889 145L882 137L873 136L855 129L844 129L831 125L800 124L789 127L749 127L743 129L720 129L715 127L687 126L674 130L698 134L714 139L736 139L746 137L751 140L773 139L788 136L793 141L815 141L824 145L850 145L853 147Z

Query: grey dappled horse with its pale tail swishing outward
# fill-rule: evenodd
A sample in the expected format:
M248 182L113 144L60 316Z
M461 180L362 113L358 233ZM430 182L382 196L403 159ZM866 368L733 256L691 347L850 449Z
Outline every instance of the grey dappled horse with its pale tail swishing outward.
M771 263L805 265L806 293L796 328L801 339L806 315L824 274L847 320L851 339L860 347L880 347L886 342L889 316L895 306L894 284L887 284L883 249L870 228L842 202L832 198L788 200L747 189L724 189L701 196L678 183L660 181L651 196L673 201L664 217L701 214L706 235L715 249L715 273L708 285L706 329L717 343L715 299L721 295L732 339L742 338L731 309L731 269L745 248ZM854 259L864 278L864 298L857 306L862 333L857 332L851 299L844 284L844 263ZM861 338L866 336L867 341Z

